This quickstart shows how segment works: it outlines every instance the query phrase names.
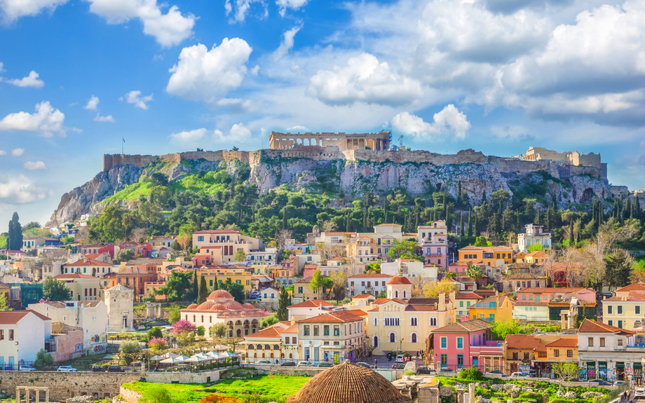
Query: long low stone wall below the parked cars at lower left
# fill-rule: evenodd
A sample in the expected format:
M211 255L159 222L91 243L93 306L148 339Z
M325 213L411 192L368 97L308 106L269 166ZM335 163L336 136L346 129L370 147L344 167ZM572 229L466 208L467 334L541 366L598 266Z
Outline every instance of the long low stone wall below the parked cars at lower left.
M0 388L9 395L18 386L48 386L50 400L62 401L74 396L93 395L100 398L114 397L121 392L123 383L139 381L155 383L206 383L218 381L219 371L206 372L53 372L11 371L0 374ZM136 401L136 400L135 400Z

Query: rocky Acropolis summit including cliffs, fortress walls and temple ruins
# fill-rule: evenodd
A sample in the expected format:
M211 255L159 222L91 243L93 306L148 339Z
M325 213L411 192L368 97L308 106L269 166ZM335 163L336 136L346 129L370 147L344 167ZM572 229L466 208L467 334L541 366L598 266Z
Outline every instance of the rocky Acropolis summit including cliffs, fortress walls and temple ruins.
M257 185L260 193L276 188L305 193L325 189L335 205L350 203L367 191L385 193L397 188L412 197L438 190L456 196L459 182L475 204L481 203L484 192L490 195L503 189L512 193L518 186L543 180L548 182L548 196L555 193L565 204L629 194L625 186L608 184L606 164L601 163L598 153L559 153L531 147L512 157L484 156L473 149L444 155L395 146L388 131L271 132L269 142L270 149L257 151L104 155L103 172L65 193L50 222L99 212L106 205L104 200L136 183L142 175L164 172L174 182L201 170L226 169L229 175L236 175L243 166L250 168L247 183Z

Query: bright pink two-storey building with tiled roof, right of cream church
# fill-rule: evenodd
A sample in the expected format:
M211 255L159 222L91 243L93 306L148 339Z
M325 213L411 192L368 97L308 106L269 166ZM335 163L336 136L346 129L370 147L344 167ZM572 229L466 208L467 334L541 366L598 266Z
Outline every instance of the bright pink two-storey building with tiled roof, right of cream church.
M491 340L491 325L481 319L456 322L433 330L435 369L459 371L477 367L487 372L503 369L504 342Z

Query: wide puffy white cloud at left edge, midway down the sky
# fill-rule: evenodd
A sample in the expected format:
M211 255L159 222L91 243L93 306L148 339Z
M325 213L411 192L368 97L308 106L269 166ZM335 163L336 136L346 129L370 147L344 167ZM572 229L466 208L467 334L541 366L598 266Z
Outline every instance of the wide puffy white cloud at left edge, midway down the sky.
M38 132L43 137L58 135L65 137L67 130L63 123L65 115L54 109L49 102L36 104L36 113L18 112L8 114L0 121L0 131Z

